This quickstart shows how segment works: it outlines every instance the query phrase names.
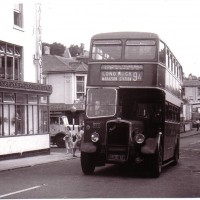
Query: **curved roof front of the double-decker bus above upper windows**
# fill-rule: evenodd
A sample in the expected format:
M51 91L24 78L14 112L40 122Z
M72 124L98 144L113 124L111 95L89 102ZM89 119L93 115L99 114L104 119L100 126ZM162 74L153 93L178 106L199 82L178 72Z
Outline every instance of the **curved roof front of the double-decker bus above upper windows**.
M92 40L98 39L157 39L159 36L149 32L109 32L99 33L92 37Z

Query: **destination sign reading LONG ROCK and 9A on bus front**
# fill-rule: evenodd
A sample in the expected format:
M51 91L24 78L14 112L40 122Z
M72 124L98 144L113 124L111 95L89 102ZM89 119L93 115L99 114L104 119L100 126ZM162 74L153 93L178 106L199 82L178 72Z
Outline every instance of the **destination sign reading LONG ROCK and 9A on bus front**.
M143 71L101 71L101 81L143 81Z

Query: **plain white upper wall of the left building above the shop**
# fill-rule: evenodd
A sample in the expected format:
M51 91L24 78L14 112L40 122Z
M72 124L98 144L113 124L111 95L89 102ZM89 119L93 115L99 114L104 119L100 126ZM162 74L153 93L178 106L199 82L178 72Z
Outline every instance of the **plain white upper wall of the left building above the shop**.
M23 29L14 26L14 3L17 1L2 1L0 6L0 40L23 46L24 81L37 82L36 67L33 55L36 48L35 31L35 1L23 4Z

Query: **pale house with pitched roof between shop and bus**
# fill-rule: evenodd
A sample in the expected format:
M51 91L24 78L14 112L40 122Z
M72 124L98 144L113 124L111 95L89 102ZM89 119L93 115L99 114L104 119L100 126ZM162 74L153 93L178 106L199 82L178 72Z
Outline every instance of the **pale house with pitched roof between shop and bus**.
M84 122L88 66L74 58L43 55L43 76L52 85L50 111L68 117L69 123Z

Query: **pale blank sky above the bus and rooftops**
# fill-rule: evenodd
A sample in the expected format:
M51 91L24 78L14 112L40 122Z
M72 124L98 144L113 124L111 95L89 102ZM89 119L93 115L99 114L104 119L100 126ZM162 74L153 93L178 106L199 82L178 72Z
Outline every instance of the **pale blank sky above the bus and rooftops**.
M199 0L41 0L42 42L85 45L103 32L157 33L183 67L200 77Z

